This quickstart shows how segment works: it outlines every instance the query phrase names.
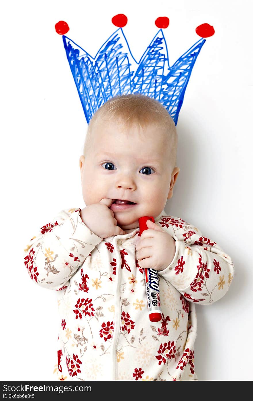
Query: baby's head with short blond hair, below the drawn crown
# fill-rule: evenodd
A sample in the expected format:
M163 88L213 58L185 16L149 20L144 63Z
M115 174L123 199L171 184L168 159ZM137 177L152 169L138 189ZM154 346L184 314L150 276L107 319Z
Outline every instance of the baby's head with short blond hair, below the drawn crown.
M110 209L124 231L139 227L141 216L156 218L173 194L176 154L175 124L161 103L141 94L108 100L88 125L80 157L86 206L113 199Z

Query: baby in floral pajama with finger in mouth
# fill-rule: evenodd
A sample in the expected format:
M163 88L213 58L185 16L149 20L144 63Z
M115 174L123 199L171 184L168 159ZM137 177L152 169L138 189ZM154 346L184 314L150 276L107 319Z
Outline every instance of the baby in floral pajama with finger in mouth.
M227 292L233 263L163 210L176 152L173 120L145 95L114 97L90 121L80 157L86 207L61 211L25 249L30 277L58 294L58 379L197 380L195 302ZM140 236L142 216L155 223ZM146 268L158 271L160 322L149 320Z

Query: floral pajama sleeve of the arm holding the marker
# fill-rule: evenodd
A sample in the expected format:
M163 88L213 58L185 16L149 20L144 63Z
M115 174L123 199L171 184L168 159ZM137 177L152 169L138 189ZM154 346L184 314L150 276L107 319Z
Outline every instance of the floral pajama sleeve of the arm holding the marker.
M159 275L189 302L208 305L219 300L233 279L231 258L196 227L177 217L172 219L172 226L165 219L160 224L175 239L175 256Z

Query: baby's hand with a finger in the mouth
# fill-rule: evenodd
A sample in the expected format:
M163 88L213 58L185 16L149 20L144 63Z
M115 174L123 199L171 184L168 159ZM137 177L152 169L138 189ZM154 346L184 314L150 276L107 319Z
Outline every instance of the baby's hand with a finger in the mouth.
M117 226L114 212L109 209L113 201L113 199L103 198L100 203L86 206L80 212L84 224L100 238L126 234L125 231Z

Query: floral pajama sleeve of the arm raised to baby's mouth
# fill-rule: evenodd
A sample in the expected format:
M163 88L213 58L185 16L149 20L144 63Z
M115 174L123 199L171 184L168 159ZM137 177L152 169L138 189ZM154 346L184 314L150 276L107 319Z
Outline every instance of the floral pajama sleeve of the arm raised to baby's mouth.
M24 264L39 286L62 290L102 241L84 224L81 209L61 211L26 246Z

